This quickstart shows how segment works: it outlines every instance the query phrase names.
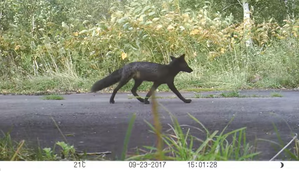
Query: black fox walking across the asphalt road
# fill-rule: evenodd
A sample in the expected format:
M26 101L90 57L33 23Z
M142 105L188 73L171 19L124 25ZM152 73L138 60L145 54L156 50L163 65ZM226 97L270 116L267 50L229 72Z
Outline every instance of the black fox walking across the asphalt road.
M167 84L170 90L172 90L178 98L180 98L185 103L190 103L191 99L185 99L181 93L174 86L174 77L180 72L191 73L193 70L188 66L185 61L185 54L181 55L178 58L170 56L171 62L168 65L152 63L152 62L132 62L128 63L122 68L112 72L107 77L102 80L96 81L92 88L91 92L100 91L106 87L116 84L116 88L113 90L113 93L110 97L110 103L114 103L114 97L117 91L127 84L132 78L135 81L135 84L131 90L132 94L140 101L145 104L149 104L149 97L152 93L160 86L161 84ZM143 81L154 82L150 91L147 93L146 97L143 99L138 96L137 88L141 85Z

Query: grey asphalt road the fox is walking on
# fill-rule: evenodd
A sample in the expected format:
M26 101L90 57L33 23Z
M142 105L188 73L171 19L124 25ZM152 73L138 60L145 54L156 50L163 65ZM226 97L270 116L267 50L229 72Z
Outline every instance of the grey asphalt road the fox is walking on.
M269 97L272 91L240 91L241 95L258 95L263 98L194 98L194 93L182 93L192 97L186 104L174 93L156 93L158 102L174 114L180 124L199 127L187 113L199 119L211 132L223 130L234 117L228 131L247 127L247 140L256 138L278 142L273 124L285 144L291 140L291 131L299 133L299 91L278 91L283 97ZM219 94L204 92L203 96ZM115 104L109 103L109 93L63 95L65 100L42 100L41 96L0 95L0 130L10 129L14 140L25 139L42 147L53 147L55 141L63 141L61 134L49 116L53 116L69 143L80 151L111 151L107 157L120 156L129 119L136 113L136 121L129 142L134 147L152 146L155 136L149 133L144 119L152 122L151 105L140 103L130 93L117 93ZM145 93L139 93L145 96ZM267 97L268 96L268 97ZM175 97L175 98L174 98ZM163 130L170 127L169 114L159 108ZM289 126L288 126L289 125ZM290 130L291 129L291 130ZM200 138L202 133L192 130ZM0 135L1 136L1 135ZM262 154L256 160L269 160L278 151L269 142L257 141ZM279 149L278 149L279 150ZM280 156L281 157L281 156Z

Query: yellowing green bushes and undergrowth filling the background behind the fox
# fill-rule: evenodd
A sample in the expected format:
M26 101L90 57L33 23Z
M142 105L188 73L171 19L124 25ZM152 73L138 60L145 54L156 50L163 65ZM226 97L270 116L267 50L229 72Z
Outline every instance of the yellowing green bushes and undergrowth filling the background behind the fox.
M183 80L190 84L202 78L201 83L214 83L201 86L243 88L256 74L263 76L264 87L298 84L299 20L284 20L284 25L274 19L252 21L247 33L242 22L235 22L236 14L213 12L216 1L194 1L196 10L187 2L4 1L0 77L10 82L2 89L37 77L81 82L128 62L168 63L169 55L180 53L195 68ZM252 37L253 49L244 46L245 34ZM282 57L277 48L283 48Z

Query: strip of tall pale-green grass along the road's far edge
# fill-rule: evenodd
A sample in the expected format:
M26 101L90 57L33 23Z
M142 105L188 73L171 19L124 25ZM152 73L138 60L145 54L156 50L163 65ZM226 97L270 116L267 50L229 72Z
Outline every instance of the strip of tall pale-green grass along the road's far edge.
M299 48L298 41L274 43L265 51L235 50L233 53L225 53L213 61L204 61L204 54L196 58L189 58L188 63L194 72L180 73L175 79L179 89L190 88L224 88L224 89L252 89L252 88L297 88L299 85ZM47 52L51 54L51 52ZM54 58L54 57L53 57ZM18 92L31 93L39 91L77 91L88 92L95 80L104 76L105 73L90 73L83 76L73 66L71 55L61 56L65 64L57 67L51 57L48 61L41 55L42 64L39 70L42 75L19 75L14 78L2 78L0 91L2 93ZM52 60L53 59L53 60ZM115 64L118 65L118 64ZM252 82L255 78L257 81ZM115 85L114 85L115 86ZM111 86L104 91L114 88ZM121 91L129 91L133 81L124 86ZM148 91L150 83L143 83L138 88L141 91ZM166 90L167 86L159 87Z

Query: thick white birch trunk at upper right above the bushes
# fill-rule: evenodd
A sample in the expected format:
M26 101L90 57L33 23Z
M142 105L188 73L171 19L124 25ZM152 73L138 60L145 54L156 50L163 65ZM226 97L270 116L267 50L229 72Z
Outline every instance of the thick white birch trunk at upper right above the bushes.
M248 3L243 0L243 20L244 20L244 31L245 31L245 45L247 47L252 47L252 39L251 39L251 22L250 22L250 11Z

